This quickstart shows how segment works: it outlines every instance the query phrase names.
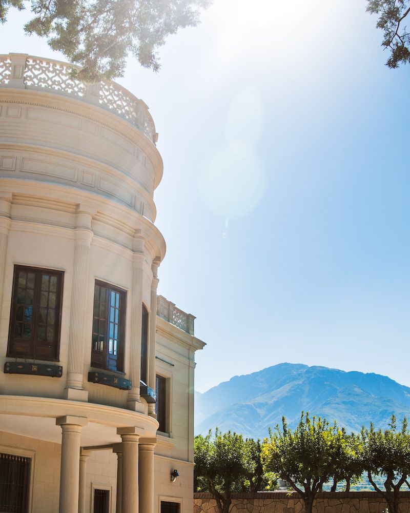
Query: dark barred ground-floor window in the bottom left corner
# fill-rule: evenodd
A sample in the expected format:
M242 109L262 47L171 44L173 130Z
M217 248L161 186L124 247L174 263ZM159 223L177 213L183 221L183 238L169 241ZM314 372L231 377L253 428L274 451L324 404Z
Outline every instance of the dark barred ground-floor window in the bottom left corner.
M0 511L27 513L31 458L0 452Z

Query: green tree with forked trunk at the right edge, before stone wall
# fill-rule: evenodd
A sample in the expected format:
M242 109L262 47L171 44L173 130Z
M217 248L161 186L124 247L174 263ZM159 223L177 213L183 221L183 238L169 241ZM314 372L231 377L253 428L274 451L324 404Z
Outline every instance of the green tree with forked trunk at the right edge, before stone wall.
M399 513L400 488L408 486L410 476L410 432L407 419L402 421L401 430L397 430L396 418L392 415L389 429L362 429L364 444L364 464L367 477L377 493L387 503L389 513ZM375 476L384 476L384 490L375 482Z

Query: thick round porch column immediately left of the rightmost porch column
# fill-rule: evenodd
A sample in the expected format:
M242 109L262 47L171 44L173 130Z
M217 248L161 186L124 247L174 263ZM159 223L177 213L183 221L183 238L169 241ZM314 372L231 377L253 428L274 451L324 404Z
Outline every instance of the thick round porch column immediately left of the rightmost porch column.
M138 513L138 428L118 428L122 445L121 513ZM141 511L141 513L143 513ZM145 513L145 512L144 512Z

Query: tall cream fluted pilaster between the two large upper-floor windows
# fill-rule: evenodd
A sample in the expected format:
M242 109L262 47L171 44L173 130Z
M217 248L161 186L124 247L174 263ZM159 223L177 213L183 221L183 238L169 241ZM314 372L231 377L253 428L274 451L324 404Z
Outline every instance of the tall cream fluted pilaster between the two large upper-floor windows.
M68 347L66 399L87 401L83 390L84 348L86 340L87 295L89 292L90 245L92 210L78 205L75 225L73 286L71 292L71 321ZM88 337L91 339L91 336Z

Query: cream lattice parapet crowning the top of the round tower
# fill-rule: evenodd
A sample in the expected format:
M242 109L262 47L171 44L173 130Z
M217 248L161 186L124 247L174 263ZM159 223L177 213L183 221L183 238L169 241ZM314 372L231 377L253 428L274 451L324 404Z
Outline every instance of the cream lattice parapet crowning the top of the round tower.
M154 144L158 134L147 105L115 82L84 84L71 77L74 66L21 53L0 55L0 87L48 90L93 103L144 133Z

